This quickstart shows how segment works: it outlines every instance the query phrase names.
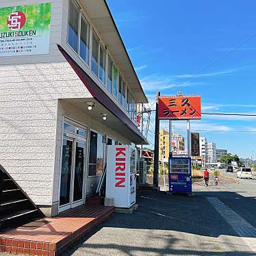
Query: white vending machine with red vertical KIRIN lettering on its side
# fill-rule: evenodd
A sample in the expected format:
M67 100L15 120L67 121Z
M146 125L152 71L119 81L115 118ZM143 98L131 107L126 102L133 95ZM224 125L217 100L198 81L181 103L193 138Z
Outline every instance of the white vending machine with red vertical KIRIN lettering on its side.
M107 146L106 195L115 207L136 203L136 151L129 145Z

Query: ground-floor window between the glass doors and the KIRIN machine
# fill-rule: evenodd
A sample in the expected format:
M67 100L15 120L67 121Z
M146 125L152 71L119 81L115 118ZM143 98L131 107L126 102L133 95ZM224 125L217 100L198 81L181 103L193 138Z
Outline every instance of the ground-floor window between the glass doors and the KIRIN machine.
M89 176L101 175L103 172L103 136L90 131Z

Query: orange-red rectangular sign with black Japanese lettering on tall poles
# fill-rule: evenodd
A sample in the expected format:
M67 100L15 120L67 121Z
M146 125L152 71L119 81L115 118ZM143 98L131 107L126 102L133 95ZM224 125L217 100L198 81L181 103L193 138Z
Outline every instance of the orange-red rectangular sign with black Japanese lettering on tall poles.
M158 103L159 119L201 119L200 96L161 96L158 99Z

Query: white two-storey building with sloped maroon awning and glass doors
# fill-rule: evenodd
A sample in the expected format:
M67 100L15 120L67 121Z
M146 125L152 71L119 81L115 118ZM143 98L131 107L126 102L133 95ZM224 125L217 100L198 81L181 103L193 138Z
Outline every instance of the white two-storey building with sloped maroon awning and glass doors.
M18 50L8 50L17 48L12 34L1 34L0 164L56 216L97 190L107 145L146 143L136 105L147 99L105 1L3 0L3 19L10 25L15 8L42 12L44 3L50 12L36 19L49 18L49 41L30 44L29 16L16 27L16 44L24 40Z

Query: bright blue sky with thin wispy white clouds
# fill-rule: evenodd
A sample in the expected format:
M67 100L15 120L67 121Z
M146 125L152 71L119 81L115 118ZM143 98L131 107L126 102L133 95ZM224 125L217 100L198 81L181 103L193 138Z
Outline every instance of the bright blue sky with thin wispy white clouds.
M162 95L181 90L200 94L204 112L256 114L256 36L194 75L256 33L255 0L107 3L151 102L157 90ZM175 122L176 131L183 133L184 125ZM256 133L235 132L256 131L256 117L203 116L192 129L205 130L219 149L241 157L254 151L256 159Z

